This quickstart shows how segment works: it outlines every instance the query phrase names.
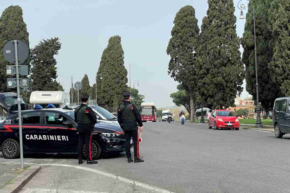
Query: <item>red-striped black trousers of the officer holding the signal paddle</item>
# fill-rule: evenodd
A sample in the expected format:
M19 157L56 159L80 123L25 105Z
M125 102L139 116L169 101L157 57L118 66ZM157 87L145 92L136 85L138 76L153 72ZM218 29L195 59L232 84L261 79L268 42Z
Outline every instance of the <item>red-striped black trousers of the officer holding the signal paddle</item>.
M133 137L133 144L134 144L134 156L135 158L139 158L139 141L138 141L138 130L133 131L125 131L126 136L126 155L127 158L131 157L131 148L130 148L130 141L131 137Z

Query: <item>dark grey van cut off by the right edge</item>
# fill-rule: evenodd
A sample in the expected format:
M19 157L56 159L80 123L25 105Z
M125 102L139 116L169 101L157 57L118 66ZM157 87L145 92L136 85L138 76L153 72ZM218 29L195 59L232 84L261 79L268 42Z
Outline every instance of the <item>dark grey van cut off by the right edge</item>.
M290 97L277 98L273 111L275 137L282 138L283 135L290 133Z

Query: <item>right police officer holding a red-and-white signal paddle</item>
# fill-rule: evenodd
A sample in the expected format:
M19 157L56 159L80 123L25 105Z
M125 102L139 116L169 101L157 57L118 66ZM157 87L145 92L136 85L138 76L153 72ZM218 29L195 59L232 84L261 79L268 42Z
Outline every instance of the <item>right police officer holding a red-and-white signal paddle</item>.
M123 93L124 102L120 104L118 107L118 122L121 128L125 132L126 136L126 155L128 158L128 163L133 162L131 157L131 149L130 149L130 141L131 137L133 137L134 144L134 155L135 163L144 162L143 159L139 158L139 140L138 140L138 126L140 126L140 131L143 130L143 123L141 119L141 115L134 104L130 102L131 93L126 91Z

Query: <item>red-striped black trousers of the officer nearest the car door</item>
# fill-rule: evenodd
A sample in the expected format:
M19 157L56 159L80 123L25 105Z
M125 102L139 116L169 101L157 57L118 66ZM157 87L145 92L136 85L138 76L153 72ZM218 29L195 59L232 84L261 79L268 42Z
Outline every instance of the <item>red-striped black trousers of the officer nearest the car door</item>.
M83 133L79 132L79 145L77 148L77 157L78 159L82 159L82 151L83 151L83 145L86 144L86 157L87 160L90 161L92 160L92 154L91 154L91 143L92 140L92 132L90 133Z

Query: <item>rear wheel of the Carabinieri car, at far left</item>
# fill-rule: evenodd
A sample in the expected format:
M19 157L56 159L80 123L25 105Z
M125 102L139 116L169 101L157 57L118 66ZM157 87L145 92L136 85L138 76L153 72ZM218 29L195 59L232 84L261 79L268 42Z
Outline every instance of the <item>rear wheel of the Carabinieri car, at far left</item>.
M17 158L20 154L19 143L14 139L6 139L2 144L1 152L7 159Z

